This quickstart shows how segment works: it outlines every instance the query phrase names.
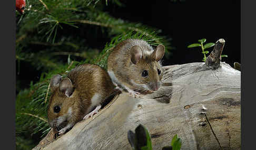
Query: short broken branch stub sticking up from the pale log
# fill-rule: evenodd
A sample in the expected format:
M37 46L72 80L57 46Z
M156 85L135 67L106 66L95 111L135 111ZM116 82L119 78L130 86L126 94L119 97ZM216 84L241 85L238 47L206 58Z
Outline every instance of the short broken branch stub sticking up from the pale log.
M212 52L205 60L205 65L211 69L218 69L220 67L221 53L225 44L224 39L219 39L216 41Z

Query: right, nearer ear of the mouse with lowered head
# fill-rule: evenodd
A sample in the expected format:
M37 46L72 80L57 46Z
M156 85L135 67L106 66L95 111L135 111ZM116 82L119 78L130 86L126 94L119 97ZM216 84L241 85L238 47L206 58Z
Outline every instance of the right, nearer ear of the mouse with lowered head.
M70 97L73 93L72 82L69 78L64 78L58 87L61 92L65 93L67 97Z

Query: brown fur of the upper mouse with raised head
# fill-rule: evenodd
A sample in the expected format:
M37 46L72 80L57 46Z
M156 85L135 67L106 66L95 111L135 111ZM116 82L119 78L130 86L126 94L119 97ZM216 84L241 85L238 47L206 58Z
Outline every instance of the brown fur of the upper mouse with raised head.
M136 65L131 62L130 56L130 49L133 46L139 46L143 50L142 59ZM140 84L146 84L151 88L152 84L160 82L163 75L161 63L155 60L155 57L152 55L153 51L154 49L144 40L127 39L122 41L110 53L107 61L107 71L109 73L112 71L117 80L126 87L134 91L146 92L147 90ZM157 74L157 69L161 70L160 75ZM148 71L148 77L141 76L143 70Z

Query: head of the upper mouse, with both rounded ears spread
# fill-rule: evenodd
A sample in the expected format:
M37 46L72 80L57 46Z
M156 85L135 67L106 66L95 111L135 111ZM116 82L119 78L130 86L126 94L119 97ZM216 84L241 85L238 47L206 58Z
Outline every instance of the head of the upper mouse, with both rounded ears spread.
M144 48L144 47L143 47ZM155 50L143 50L140 46L133 46L130 50L131 80L138 90L157 91L163 76L160 60L164 56L164 46L159 45Z

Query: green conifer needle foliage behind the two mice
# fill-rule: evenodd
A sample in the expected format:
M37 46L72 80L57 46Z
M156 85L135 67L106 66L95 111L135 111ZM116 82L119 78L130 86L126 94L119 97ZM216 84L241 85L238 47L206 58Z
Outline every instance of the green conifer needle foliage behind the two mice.
M118 0L26 0L25 14L16 13L17 74L24 63L41 72L26 89L16 82L17 149L31 149L50 130L46 112L54 74L66 76L82 63L106 69L113 47L128 38L143 39L152 46L163 44L165 57L170 55L170 39L159 36L161 30L112 17L104 12L110 3L124 7ZM109 42L101 43L99 38Z

